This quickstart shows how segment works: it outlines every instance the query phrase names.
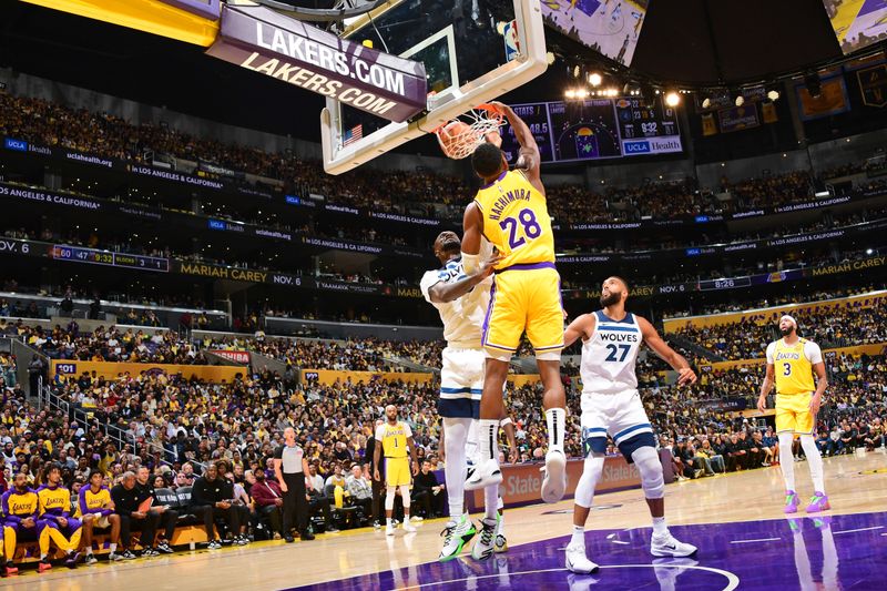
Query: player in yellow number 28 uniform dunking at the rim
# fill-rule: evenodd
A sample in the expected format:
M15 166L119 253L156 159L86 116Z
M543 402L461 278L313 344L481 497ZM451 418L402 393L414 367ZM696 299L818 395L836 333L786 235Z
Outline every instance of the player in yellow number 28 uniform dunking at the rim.
M563 308L560 275L554 267L554 236L540 179L541 159L536 140L510 106L500 102L491 106L511 124L521 146L518 162L524 170L509 171L504 154L492 143L481 144L471 155L471 165L483 185L465 211L462 265L467 273L478 268L482 237L496 246L502 258L496 264L482 332L487 364L480 401L481 462L466 481L466 489L476 490L502 481L496 446L499 419L504 416L502 389L511 355L526 330L536 349L546 390L542 406L550 445L542 500L557 502L567 489L563 452L567 400L560 376ZM481 538L495 527L495 521L485 519Z

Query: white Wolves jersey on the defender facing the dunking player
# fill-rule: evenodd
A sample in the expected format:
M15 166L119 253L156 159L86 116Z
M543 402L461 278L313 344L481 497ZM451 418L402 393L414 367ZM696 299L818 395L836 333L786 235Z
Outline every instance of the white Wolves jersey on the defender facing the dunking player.
M481 261L488 258L491 252L490 244L483 241L480 248ZM483 326L483 317L487 315L487 307L490 305L492 276L483 279L469 293L452 302L435 304L429 295L429 291L436 284L440 282L452 284L465 277L461 257L453 258L442 268L426 272L419 287L425 299L440 314L440 320L443 323L443 338L448 344L458 343L462 347L480 347L480 330Z

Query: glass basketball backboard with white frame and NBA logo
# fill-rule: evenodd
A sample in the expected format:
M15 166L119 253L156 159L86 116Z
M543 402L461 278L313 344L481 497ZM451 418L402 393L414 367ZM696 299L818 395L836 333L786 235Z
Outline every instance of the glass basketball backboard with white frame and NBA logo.
M432 132L546 71L539 0L392 0L341 35L422 62L428 105L392 123L327 99L320 113L324 169L341 174Z

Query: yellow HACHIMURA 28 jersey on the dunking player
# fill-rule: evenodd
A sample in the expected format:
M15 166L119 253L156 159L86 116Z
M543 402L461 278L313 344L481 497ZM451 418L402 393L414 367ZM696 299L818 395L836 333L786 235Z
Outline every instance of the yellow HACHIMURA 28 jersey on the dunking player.
M483 235L503 256L496 268L554 262L554 235L546 197L520 171L507 171L480 187L475 203Z

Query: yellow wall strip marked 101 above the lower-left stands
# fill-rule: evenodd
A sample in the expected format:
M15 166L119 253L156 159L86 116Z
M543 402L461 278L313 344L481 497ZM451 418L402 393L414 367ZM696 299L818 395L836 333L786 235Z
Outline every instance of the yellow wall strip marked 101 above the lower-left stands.
M246 369L243 367L231 367L224 365L172 365L172 364L133 364L133 363L110 363L110 361L80 361L75 359L51 360L50 379L57 376L64 376L71 379L77 378L84 371L114 380L123 374L137 377L143 371L147 374L182 374L185 379L203 379L211 383L234 381L239 375L244 376Z

